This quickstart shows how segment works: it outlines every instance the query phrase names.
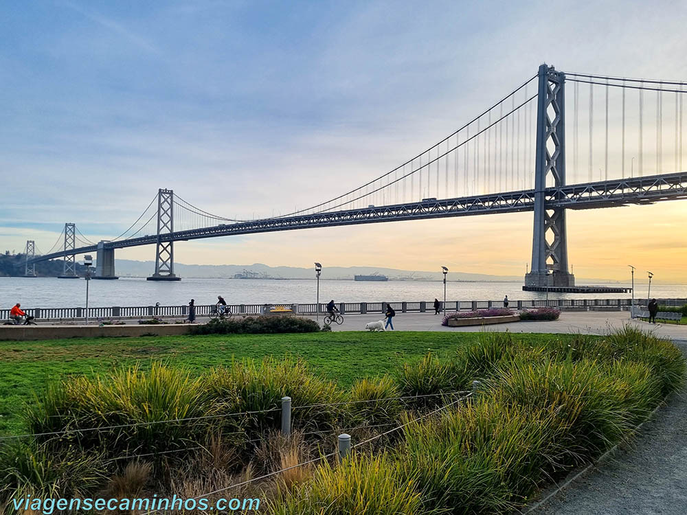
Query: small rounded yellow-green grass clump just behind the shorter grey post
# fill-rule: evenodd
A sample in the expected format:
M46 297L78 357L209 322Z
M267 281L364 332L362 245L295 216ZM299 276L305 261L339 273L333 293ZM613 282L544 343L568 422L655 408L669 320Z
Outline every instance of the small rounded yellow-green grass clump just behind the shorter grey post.
M398 415L403 410L403 402L395 398L400 396L401 391L389 376L357 380L350 394L350 411L354 423L361 421L374 425L398 420Z

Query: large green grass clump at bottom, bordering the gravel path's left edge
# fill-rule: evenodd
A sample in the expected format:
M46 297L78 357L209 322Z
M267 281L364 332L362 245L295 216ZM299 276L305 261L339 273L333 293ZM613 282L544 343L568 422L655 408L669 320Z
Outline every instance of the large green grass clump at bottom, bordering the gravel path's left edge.
M398 461L423 513L504 514L560 467L566 427L548 410L487 398L404 431Z

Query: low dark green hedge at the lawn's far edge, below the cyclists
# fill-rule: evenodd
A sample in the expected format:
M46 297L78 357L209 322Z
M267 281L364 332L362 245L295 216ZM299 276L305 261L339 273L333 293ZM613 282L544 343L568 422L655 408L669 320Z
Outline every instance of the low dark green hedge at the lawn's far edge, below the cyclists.
M236 319L212 319L194 325L191 334L262 334L285 332L317 332L319 324L311 319L292 315L268 315Z

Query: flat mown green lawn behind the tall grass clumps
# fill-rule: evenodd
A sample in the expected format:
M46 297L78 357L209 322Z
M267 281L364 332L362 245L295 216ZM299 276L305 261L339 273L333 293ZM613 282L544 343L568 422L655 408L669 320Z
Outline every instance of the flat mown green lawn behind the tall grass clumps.
M532 342L570 336L518 334ZM393 372L429 350L447 356L475 341L475 332L318 332L145 336L0 342L0 435L25 431L21 411L46 382L60 377L109 371L113 367L164 360L202 371L232 359L291 356L315 374L348 387L356 378Z

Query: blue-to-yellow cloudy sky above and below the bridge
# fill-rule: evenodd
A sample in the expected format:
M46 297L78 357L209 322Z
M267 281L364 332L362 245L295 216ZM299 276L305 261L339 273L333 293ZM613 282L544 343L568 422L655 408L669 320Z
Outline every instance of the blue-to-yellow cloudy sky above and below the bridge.
M0 5L0 249L122 233L160 187L227 217L307 207L537 73L687 78L680 1L24 1ZM570 95L568 95L570 98ZM569 136L570 137L570 136ZM570 158L569 158L570 161ZM671 170L672 171L672 170ZM687 282L687 201L569 211L578 277ZM532 214L179 242L195 264L517 275ZM117 251L153 260L153 247Z

